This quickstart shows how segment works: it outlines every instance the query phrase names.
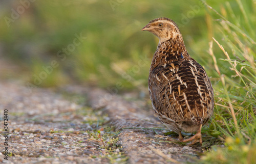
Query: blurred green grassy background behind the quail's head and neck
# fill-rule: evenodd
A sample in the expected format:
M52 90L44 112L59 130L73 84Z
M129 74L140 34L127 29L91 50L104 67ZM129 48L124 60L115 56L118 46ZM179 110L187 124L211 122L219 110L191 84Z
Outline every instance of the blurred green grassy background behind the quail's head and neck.
M236 1L228 2L239 9ZM0 3L2 56L20 66L19 78L37 87L86 83L107 88L119 82L122 90L147 90L148 70L158 38L141 29L158 17L171 18L179 25L190 55L206 67L209 76L215 76L208 43L211 37L221 36L212 25L214 17L200 1ZM220 11L223 1L207 3ZM252 10L250 3L247 5ZM83 39L74 45L77 35ZM223 58L223 53L217 58ZM57 61L58 66L51 71L48 66L52 61ZM42 72L47 68L46 75Z

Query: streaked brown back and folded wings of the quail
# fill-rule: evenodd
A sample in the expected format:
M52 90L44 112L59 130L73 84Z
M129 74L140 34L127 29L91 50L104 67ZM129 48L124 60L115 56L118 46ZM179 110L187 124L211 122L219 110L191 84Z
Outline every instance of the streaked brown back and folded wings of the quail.
M211 116L212 87L203 67L195 60L158 66L149 78L152 104L160 117L180 122Z

